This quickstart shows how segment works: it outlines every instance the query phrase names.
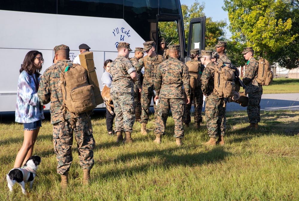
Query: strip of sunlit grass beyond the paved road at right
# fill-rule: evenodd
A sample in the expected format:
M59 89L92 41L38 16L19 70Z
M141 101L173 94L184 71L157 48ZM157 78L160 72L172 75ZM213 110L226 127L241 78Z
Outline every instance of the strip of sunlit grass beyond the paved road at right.
M240 91L243 91L241 88ZM263 86L263 94L299 93L299 79L275 78L269 86Z

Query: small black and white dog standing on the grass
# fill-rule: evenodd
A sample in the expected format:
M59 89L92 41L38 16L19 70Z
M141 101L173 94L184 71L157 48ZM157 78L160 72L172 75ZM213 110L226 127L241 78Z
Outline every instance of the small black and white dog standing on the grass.
M13 191L13 185L16 182L22 186L23 194L26 194L25 183L30 182L30 189L32 189L36 170L41 162L42 159L39 156L31 156L24 164L24 167L11 169L6 175L9 191Z

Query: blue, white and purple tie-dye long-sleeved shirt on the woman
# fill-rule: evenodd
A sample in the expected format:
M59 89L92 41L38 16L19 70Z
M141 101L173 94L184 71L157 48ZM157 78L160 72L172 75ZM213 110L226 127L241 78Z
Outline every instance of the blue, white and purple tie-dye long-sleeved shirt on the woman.
M16 122L31 123L44 119L44 111L40 105L33 79L35 75L29 75L26 71L22 71L19 75ZM38 80L36 82L38 83Z

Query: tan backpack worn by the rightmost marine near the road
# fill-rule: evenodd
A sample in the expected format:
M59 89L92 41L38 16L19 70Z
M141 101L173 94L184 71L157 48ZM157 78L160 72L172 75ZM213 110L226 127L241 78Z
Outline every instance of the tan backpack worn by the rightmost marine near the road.
M256 61L259 65L259 69L257 72L257 82L260 85L263 86L269 86L272 81L273 81L273 72L271 71L271 66L269 62L266 59L263 59L262 57L257 61L257 60L252 60Z

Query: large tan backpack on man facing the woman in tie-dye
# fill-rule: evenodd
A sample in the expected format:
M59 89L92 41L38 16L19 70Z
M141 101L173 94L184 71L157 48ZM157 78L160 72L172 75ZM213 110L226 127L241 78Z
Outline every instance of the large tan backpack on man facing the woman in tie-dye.
M60 85L63 96L62 110L77 115L97 106L94 86L88 83L87 70L83 66L73 64L63 68Z

